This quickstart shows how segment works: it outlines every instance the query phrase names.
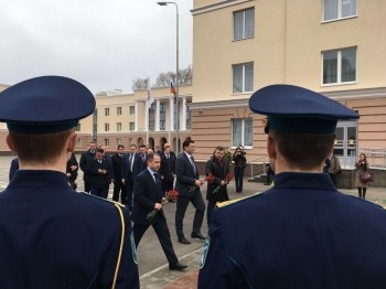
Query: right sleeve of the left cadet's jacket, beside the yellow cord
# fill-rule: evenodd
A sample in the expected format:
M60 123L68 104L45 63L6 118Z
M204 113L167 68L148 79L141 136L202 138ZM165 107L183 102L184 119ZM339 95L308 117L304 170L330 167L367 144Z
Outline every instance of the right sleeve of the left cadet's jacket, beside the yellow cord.
M137 267L137 251L131 232L131 222L127 210L122 208L121 212L125 220L125 239L122 243L122 247L121 229L119 229L119 232L117 232L112 240L111 248L107 254L106 263L101 268L100 283L98 288L112 288L112 281L114 276L116 275L116 270L117 278L115 288L140 288ZM118 210L117 214L119 214ZM120 258L118 258L119 254Z

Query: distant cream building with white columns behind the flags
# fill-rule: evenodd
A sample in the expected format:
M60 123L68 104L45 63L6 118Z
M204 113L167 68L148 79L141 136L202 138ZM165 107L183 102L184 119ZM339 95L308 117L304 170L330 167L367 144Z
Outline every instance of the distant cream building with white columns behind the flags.
M180 142L191 135L191 87L182 85L179 89ZM150 101L151 98L153 101ZM162 148L170 142L175 150L176 101L169 87L152 88L151 92L139 89L133 94L99 93L96 101L94 138L98 143L115 150L118 144L143 143Z

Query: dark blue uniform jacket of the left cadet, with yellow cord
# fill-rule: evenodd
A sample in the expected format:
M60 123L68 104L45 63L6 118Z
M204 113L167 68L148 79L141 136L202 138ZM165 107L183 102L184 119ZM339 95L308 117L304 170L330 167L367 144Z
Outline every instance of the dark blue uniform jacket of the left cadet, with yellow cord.
M139 288L124 214L116 288ZM64 173L20 170L0 194L0 220L1 288L111 288L121 240L112 203L73 191Z

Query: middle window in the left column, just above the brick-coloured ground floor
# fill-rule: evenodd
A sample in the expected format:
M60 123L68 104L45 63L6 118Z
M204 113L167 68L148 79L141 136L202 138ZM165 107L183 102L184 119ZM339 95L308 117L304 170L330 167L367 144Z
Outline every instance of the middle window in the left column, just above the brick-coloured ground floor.
M254 90L254 63L233 65L233 93L240 94Z

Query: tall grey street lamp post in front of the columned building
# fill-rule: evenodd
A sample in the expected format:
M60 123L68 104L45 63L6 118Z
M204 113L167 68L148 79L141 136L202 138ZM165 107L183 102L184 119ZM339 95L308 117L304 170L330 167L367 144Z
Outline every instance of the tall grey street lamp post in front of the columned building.
M179 154L179 148L180 148L180 82L179 82L179 6L175 2L157 2L159 6L168 6L168 4L174 4L175 6L175 15L176 15L176 36L175 36L175 156Z

